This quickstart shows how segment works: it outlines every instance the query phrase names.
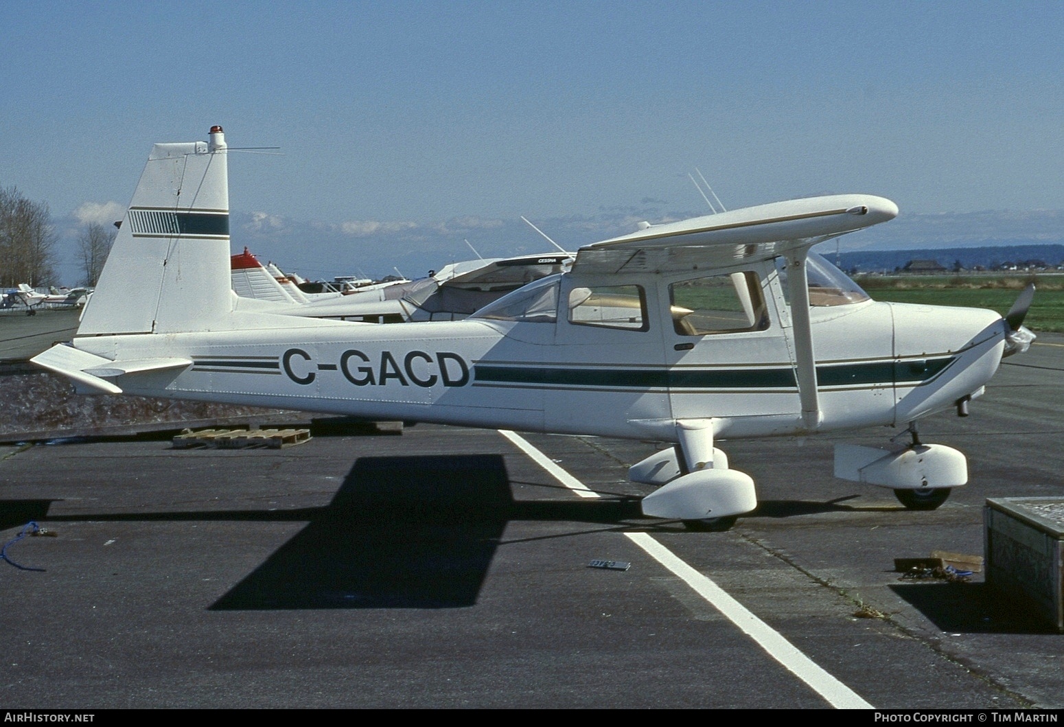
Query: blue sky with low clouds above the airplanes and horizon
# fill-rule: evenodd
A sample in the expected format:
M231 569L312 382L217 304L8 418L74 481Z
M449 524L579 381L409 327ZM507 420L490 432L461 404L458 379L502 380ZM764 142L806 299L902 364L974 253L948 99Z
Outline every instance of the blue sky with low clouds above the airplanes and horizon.
M214 123L281 147L231 155L234 212L364 245L703 214L696 168L729 209L1064 209L1060 2L5 2L0 29L0 185L66 231Z

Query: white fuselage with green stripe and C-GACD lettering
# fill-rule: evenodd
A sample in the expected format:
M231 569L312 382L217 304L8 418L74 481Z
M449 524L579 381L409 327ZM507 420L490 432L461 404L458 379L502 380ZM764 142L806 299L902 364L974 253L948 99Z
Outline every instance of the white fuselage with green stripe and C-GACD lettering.
M677 420L700 418L721 437L904 426L997 369L1007 329L996 313L811 286L819 417L810 427L782 275L771 260L710 277L566 274L465 320L307 326L259 315L242 330L233 314L230 330L74 345L112 360L193 362L120 376L127 394L661 441L675 441Z

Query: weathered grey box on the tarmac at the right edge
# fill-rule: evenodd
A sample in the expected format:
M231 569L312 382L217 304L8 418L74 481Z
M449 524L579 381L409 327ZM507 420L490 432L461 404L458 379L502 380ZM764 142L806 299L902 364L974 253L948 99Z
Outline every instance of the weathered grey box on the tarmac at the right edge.
M1064 633L1064 497L987 499L986 585Z

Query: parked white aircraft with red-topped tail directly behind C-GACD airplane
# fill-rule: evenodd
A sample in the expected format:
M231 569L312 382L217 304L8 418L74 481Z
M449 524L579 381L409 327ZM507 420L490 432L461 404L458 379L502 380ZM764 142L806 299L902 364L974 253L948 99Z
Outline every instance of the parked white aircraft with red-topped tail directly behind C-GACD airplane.
M573 258L547 252L449 263L419 280L361 285L313 300L247 248L232 257L231 266L233 291L246 298L287 303L277 309L280 315L388 324L460 320L522 285L568 269Z

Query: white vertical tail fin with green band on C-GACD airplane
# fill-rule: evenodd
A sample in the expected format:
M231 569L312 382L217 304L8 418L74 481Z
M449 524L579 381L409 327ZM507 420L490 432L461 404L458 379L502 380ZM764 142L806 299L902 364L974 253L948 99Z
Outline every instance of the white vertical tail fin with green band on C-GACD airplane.
M78 335L214 328L233 310L226 138L156 144Z

